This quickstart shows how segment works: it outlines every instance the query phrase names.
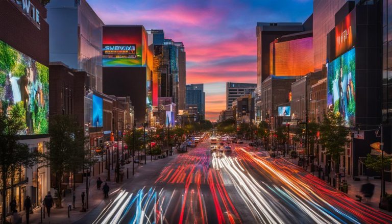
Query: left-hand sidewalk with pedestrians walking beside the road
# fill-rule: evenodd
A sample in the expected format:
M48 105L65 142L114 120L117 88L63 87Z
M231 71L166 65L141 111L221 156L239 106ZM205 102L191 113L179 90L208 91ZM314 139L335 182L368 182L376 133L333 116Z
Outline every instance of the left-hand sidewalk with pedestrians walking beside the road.
M174 156L169 156L164 159L158 159L158 160L153 160L151 161L150 158L147 159L147 164L146 167L148 167L150 164L156 164L159 163L160 161L166 161L165 163L168 162L168 160L171 160L175 157L177 157L177 153L174 154ZM144 161L140 161L141 163L144 163ZM136 173L140 173L143 171L143 169L138 170L142 168L144 164L135 164L135 175ZM104 172L101 172L99 175L96 172L95 176L91 177L91 182L90 182L90 188L89 188L89 200L88 200L88 209L87 212L81 212L80 210L82 209L82 200L81 200L81 194L84 191L86 193L86 182L84 181L83 183L79 183L76 185L76 190L75 190L75 195L76 195L76 200L75 200L75 209L72 206L72 194L67 193L65 197L62 199L62 207L63 208L52 208L51 209L51 217L47 217L47 214L45 214L45 218L42 216L42 223L73 223L79 219L81 219L83 216L87 215L90 211L92 211L94 208L99 206L102 202L110 202L113 198L113 195L116 194L116 192L121 189L121 187L124 184L129 184L132 182L133 177L132 177L132 163L130 164L125 164L124 169L124 179L123 181L116 183L115 182L115 163L112 166L110 165L110 181L107 182L107 184L110 187L109 190L109 198L104 199L104 193L102 190L102 186L105 184L106 179L108 177L108 170L104 170ZM127 168L129 169L129 179L127 179ZM95 170L96 171L96 170ZM96 187L96 180L98 177L101 177L101 180L103 181L103 184L101 186L101 190L98 190ZM52 195L54 195L54 192L52 192ZM85 197L85 203L86 203L86 197ZM71 205L72 210L69 212L69 218L68 218L68 205ZM33 214L30 214L30 223L41 223L41 207L37 207L36 209L33 210ZM19 214L22 216L22 223L26 223L26 212L21 211Z

